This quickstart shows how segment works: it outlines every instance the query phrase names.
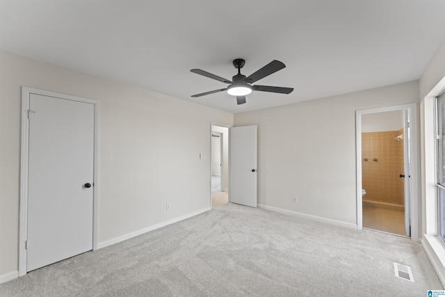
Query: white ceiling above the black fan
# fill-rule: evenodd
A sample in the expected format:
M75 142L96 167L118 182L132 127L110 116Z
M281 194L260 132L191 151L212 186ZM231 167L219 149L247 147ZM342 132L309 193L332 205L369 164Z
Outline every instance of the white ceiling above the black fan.
M0 48L231 113L419 79L445 40L444 0L0 0ZM227 85L286 64L236 105Z

